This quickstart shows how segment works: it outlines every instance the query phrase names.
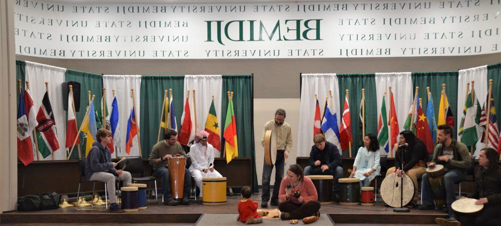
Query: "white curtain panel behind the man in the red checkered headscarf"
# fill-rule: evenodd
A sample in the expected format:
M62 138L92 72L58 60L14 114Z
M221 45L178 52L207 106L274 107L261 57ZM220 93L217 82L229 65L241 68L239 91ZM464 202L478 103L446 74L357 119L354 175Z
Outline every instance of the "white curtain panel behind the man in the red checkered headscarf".
M185 75L184 76L184 96L183 108L186 101L186 91L190 90L190 110L191 115L196 115L197 128L195 131L205 129L205 121L209 113L210 103L212 102L212 95L214 95L214 107L216 108L217 121L219 123L219 136L222 135L224 130L224 123L221 123L221 93L222 93L222 76L216 75ZM193 89L195 89L196 112L193 105ZM193 114L194 113L194 114ZM194 118L192 118L194 121ZM182 123L182 122L181 122ZM180 125L179 125L180 126ZM192 129L194 129L194 124ZM223 127L221 127L223 126ZM191 140L191 139L190 139ZM220 157L221 152L214 151L214 157Z

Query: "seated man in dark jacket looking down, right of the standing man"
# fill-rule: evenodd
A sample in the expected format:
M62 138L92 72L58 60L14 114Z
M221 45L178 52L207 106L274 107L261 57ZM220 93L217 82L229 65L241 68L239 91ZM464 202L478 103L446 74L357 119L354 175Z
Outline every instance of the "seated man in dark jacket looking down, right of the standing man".
M342 159L338 147L326 141L322 133L316 134L313 141L315 145L310 151L309 165L304 170L305 175L333 175L333 190L338 191L338 179L343 177Z

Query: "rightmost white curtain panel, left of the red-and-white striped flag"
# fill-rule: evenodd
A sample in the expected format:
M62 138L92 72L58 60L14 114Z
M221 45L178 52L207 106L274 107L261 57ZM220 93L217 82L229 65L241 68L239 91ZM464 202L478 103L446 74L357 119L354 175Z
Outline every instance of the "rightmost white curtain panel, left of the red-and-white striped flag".
M466 82L470 82L469 88L471 91L472 80L475 81L475 96L478 98L478 104L480 104L481 108L483 106L483 103L487 99L489 88L489 83L487 81L487 65L459 70L459 77L457 78L457 128L459 128L459 123L461 123L461 118L463 116L463 108L465 102L464 98L466 96ZM445 88L447 88L447 86L445 86ZM492 89L494 90L495 87L492 87ZM482 130L478 125L476 126L476 133L478 135L479 141L476 143L476 150L473 153L473 156L478 157L480 149L485 147L485 143L483 143L483 140L481 140Z

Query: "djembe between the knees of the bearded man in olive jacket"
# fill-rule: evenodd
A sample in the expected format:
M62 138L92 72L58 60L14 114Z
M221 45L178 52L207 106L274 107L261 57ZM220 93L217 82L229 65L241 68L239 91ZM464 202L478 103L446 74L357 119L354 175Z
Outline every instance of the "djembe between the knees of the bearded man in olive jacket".
M436 164L433 167L426 168L426 173L428 174L431 193L433 193L433 197L435 197L435 205L439 208L444 208L447 205L445 185L443 184L445 168L441 164Z

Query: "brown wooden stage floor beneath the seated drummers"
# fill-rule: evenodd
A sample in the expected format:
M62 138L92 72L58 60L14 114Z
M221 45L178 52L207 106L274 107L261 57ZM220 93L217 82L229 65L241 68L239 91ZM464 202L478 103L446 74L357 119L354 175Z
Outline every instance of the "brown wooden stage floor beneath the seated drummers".
M253 200L261 204L261 195L254 194ZM36 212L5 212L0 215L0 222L13 223L13 225L53 225L53 224L75 224L75 225L98 225L98 224L157 224L166 223L174 225L196 225L197 220L204 213L233 213L236 216L237 203L240 196L227 196L226 205L203 205L199 200L191 200L190 205L166 206L156 203L148 203L148 208L138 212L110 213L107 211L76 210L75 208L59 208L53 210ZM378 198L378 201L381 199ZM270 206L268 208L276 208ZM412 224L427 225L433 224L436 217L446 217L442 211L422 211L417 208L411 209L408 213L393 212L392 208L385 207L383 203L376 203L373 206L362 205L339 205L337 203L322 205L321 213L328 216L337 225L391 225L391 224ZM270 219L274 220L274 219ZM288 221L283 221L289 224ZM266 223L266 221L265 221ZM167 225L168 225L167 224ZM314 225L315 223L313 223ZM214 222L214 225L218 222ZM242 224L243 225L243 224Z

